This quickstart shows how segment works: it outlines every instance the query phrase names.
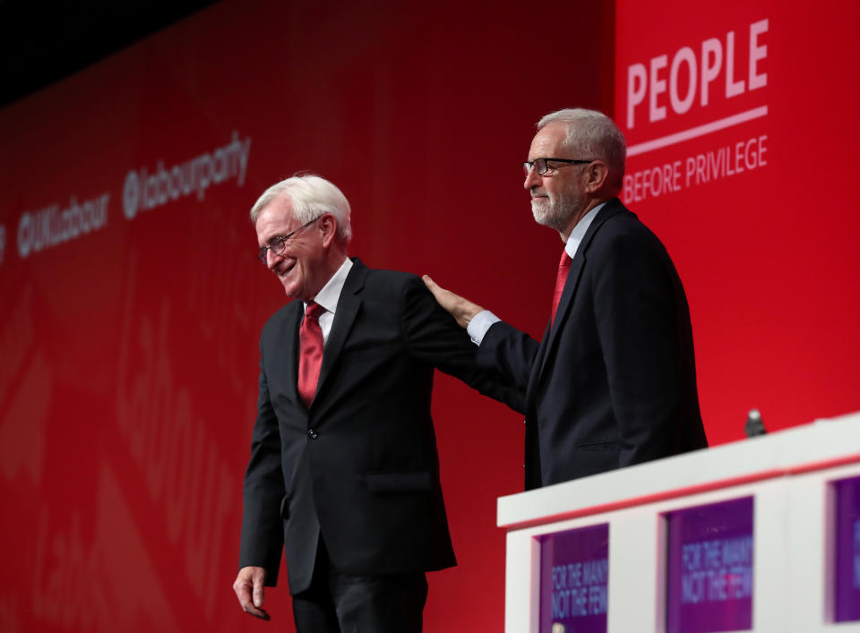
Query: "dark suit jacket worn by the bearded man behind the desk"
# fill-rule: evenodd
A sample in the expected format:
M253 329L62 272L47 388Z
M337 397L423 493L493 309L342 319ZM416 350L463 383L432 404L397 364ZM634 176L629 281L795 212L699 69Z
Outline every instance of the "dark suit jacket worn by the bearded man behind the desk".
M525 391L527 489L707 446L684 287L617 199L586 232L543 340L495 323L478 361Z

